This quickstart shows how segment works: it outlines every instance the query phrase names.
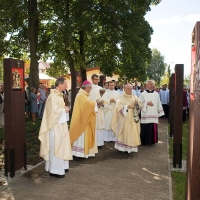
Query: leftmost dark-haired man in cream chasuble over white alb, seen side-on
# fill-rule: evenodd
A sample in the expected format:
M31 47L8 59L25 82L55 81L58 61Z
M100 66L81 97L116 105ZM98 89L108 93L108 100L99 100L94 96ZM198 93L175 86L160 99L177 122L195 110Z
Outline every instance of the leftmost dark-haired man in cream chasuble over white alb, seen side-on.
M65 106L62 94L67 81L58 78L55 86L46 101L38 138L41 142L40 156L46 161L45 170L50 172L50 176L63 178L69 169L69 160L72 160L67 125L69 107Z

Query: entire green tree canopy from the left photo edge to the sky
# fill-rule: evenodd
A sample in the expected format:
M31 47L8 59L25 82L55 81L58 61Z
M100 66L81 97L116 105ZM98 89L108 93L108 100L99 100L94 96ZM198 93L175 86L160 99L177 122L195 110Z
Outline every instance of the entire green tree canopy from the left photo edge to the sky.
M38 82L37 61L51 58L49 73L97 65L104 75L145 79L153 33L144 15L159 0L0 0L0 55L30 54L30 77ZM5 39L6 38L6 39ZM59 73L57 73L59 74Z

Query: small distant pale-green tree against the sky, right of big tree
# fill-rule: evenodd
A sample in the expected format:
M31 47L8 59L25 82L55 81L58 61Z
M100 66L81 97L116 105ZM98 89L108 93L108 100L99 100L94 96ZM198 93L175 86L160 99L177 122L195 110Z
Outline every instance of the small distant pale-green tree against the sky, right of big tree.
M165 75L167 64L164 60L164 56L159 50L152 49L152 59L148 66L147 75L148 78L155 80L156 85L160 85L161 79Z

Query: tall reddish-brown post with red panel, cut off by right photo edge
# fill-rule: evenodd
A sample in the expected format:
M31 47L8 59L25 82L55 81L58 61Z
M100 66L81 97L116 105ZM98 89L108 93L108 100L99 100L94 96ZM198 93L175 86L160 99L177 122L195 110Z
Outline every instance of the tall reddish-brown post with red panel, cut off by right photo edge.
M192 32L186 199L200 199L200 22Z

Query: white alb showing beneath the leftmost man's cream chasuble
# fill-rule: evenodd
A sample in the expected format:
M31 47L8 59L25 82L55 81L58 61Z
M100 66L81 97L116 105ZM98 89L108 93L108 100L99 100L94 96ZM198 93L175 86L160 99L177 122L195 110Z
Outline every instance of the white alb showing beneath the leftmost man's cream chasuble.
M62 124L67 121L69 121L69 113L66 113L65 110L63 110L58 123ZM49 131L49 143L49 160L45 162L45 170L52 174L64 175L65 169L69 169L69 161L60 159L54 155L54 128Z

